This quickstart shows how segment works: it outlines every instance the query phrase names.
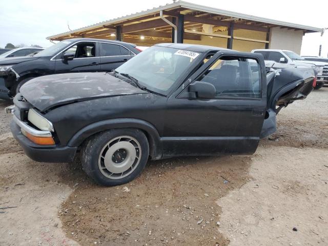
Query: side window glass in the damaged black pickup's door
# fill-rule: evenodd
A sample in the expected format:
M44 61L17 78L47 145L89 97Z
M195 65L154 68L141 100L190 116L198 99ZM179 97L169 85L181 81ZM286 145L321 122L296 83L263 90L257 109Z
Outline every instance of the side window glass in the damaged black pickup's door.
M197 80L214 85L216 97L261 97L261 68L255 59L220 58Z

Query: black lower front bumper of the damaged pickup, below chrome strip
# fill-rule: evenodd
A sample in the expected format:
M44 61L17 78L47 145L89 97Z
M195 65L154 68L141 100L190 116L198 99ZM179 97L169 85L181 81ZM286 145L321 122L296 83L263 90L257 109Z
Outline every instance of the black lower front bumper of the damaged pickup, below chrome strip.
M77 147L36 145L22 134L20 127L14 120L10 124L10 129L14 138L22 146L25 154L32 160L41 162L71 162L74 159Z

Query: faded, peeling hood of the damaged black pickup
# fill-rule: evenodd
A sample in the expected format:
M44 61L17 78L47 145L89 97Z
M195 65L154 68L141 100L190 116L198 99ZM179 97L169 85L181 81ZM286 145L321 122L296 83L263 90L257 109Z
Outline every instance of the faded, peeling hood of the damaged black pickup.
M48 111L61 105L102 97L148 93L108 73L66 73L37 77L20 88L35 108Z

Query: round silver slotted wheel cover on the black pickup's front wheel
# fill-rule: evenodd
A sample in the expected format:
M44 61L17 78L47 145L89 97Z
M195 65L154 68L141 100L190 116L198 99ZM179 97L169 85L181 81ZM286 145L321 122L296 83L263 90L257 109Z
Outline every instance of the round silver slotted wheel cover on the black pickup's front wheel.
M101 149L98 158L100 172L110 179L120 179L131 174L139 165L141 147L130 136L119 136L110 140Z

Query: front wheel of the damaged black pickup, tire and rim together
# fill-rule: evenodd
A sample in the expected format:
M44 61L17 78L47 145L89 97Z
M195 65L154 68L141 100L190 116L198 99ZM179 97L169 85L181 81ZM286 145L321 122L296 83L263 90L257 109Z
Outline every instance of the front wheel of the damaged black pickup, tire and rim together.
M129 139L133 140L128 141ZM118 144L118 142L120 143ZM131 145L129 145L129 143L134 146L134 150L133 148L130 149ZM119 147L120 145L127 146L127 148ZM115 151L117 148L118 150ZM140 151L138 149L140 149ZM127 154L124 156L123 152L125 150ZM113 155L111 153L113 153ZM120 155L120 153L122 155ZM136 158L133 159L134 154ZM87 175L99 185L117 186L136 178L145 168L148 156L149 144L146 135L142 131L130 128L113 129L95 134L85 142L81 149L81 164ZM116 157L119 157L118 160L121 161L118 162L118 165L114 163L114 160L117 160ZM124 157L126 157L126 160ZM124 165L124 163L127 164ZM118 167L120 164L123 164L122 166L124 167L122 169L124 169L131 163L132 166L128 170L121 173L118 172L117 169L121 168ZM105 167L105 165L107 166ZM111 168L117 172L110 172L113 171Z

